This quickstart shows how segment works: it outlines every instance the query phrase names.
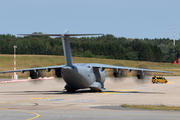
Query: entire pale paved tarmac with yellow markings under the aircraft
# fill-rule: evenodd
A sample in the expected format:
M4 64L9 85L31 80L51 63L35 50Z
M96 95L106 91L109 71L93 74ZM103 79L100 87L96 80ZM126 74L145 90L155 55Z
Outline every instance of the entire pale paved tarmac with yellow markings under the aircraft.
M63 91L65 83L56 80L44 80L39 85L29 82L0 84L0 119L179 120L179 111L120 107L121 104L180 106L180 77L166 78L168 84L136 84L131 77L114 83L113 78L107 78L106 90L102 93L88 89L67 93Z

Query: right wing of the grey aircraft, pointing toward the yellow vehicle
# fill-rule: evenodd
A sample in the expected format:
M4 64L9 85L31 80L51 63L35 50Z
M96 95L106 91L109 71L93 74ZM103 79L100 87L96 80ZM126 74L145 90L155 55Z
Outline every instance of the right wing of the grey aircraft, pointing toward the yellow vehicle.
M114 66L114 65L105 65L105 64L92 64L94 68L103 68L103 69L119 69L119 70L128 70L131 72L132 70L135 71L142 71L142 72L160 72L160 73L172 73L169 71L160 71L160 70L151 70L151 69L143 69L143 68L131 68L131 67L123 67L123 66Z

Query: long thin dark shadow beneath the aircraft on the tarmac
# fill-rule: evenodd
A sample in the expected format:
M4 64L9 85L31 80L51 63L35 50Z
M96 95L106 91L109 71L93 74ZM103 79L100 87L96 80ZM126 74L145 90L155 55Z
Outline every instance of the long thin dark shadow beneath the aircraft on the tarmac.
M141 91L103 91L103 92L93 92L91 90L78 90L76 92L66 92L66 91L7 91L0 92L6 93L7 95L53 95L53 94L83 94L83 93L94 93L94 94L128 94L128 93L136 93L136 94L165 94L163 92L141 92Z

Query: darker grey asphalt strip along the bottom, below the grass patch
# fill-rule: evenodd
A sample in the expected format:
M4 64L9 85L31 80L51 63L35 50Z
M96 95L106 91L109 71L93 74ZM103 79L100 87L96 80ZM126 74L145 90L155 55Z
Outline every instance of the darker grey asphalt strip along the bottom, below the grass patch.
M30 110L29 110L30 111ZM33 114L20 113L13 111L0 111L1 120L26 120L33 118ZM34 118L37 120L179 120L179 112L161 112L161 111L55 111L55 110L38 110L40 116Z

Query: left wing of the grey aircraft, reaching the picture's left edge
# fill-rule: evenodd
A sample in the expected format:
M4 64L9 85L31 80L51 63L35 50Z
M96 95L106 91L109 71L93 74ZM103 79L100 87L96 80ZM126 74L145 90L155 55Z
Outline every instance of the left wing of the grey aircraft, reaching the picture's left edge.
M56 69L56 68L62 68L65 65L57 65L57 66L49 66L49 67L38 67L38 68L27 68L27 69L20 69L20 70L11 70L11 71L1 71L0 73L10 73L10 72L21 72L24 73L25 71L36 71L36 70L47 70L50 69Z

